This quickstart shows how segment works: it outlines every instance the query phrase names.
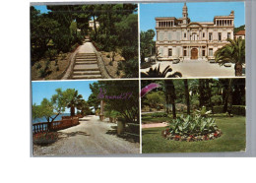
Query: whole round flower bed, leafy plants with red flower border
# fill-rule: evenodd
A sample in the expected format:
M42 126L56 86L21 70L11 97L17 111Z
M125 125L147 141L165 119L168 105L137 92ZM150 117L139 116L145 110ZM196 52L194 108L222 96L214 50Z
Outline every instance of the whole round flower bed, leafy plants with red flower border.
M169 128L163 130L161 135L168 140L194 142L214 140L221 137L222 131L213 118L180 116L169 123Z

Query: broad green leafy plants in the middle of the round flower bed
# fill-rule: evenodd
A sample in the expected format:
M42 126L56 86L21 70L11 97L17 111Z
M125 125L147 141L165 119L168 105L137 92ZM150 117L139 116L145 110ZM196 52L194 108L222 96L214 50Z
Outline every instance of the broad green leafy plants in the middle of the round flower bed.
M183 115L173 119L169 123L169 132L172 135L207 135L210 133L215 133L218 126L213 118L205 118L200 115L194 117L188 115L184 117Z

